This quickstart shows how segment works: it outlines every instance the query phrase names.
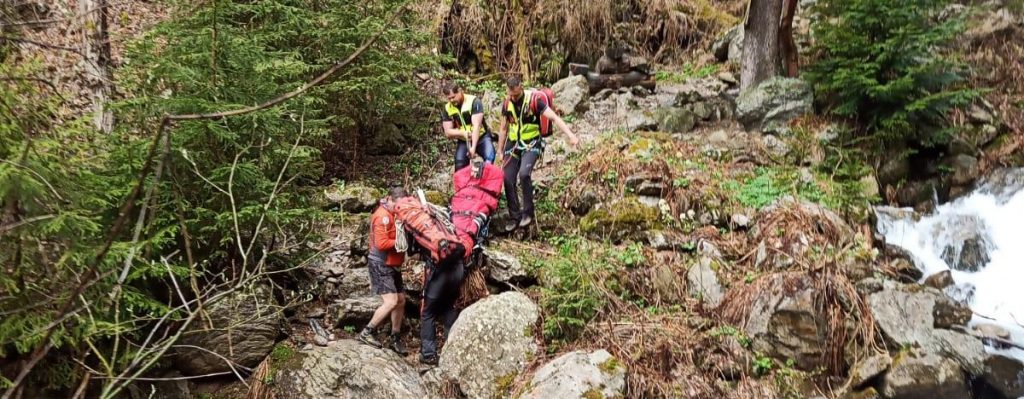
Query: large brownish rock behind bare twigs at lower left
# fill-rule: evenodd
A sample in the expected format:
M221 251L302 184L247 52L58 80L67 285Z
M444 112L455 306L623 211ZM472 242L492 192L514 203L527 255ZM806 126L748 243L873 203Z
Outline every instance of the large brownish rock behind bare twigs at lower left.
M206 320L193 323L178 341L174 361L185 375L230 371L224 358L255 367L270 353L285 322L281 306L264 286L239 291L205 305L209 328Z

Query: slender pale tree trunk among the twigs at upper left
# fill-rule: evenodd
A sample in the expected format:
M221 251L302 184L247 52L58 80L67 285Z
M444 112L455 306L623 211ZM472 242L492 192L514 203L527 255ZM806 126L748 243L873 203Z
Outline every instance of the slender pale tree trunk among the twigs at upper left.
M110 133L114 130L114 114L106 108L114 87L111 41L106 29L110 9L106 0L79 0L78 13L82 15L85 81L92 93L93 125Z

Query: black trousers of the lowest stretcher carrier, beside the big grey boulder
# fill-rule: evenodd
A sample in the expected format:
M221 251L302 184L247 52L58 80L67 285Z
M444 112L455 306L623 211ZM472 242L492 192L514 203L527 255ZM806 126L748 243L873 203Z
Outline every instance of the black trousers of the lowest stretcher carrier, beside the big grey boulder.
M437 319L444 322L444 339L447 340L452 324L459 317L455 303L459 299L459 290L466 271L462 259L434 266L428 258L426 263L427 282L423 286L423 314L420 317L420 354L432 357L437 355Z

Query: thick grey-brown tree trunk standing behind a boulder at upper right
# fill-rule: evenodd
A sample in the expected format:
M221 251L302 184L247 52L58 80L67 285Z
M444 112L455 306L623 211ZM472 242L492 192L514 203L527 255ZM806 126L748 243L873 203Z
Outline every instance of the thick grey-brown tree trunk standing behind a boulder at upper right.
M781 73L782 48L779 28L784 0L750 0L746 23L743 24L743 57L739 73L739 89Z

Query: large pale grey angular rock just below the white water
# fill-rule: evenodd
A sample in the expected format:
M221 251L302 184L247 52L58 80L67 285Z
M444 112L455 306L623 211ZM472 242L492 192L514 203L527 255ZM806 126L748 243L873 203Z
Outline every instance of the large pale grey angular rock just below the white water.
M909 345L956 359L961 366L981 373L984 347L977 338L948 329L964 325L972 315L965 305L931 287L896 284L867 297L874 321L889 343Z

